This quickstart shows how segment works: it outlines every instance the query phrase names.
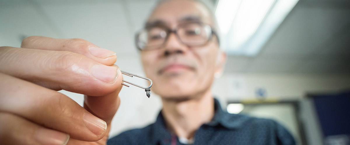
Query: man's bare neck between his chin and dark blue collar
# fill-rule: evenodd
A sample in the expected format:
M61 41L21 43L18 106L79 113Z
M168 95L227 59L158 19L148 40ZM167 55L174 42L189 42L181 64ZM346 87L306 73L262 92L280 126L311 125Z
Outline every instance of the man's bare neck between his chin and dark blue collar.
M167 128L178 137L192 139L202 124L214 117L214 99L211 91L184 101L162 100Z

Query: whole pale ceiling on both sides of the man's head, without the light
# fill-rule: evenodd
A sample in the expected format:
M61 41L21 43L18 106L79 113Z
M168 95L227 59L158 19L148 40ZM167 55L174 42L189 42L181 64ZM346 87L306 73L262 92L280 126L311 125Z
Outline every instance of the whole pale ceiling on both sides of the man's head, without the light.
M0 46L19 47L30 35L83 38L140 72L134 33L156 1L1 0ZM349 38L350 1L300 0L257 56L228 56L224 73L350 74Z

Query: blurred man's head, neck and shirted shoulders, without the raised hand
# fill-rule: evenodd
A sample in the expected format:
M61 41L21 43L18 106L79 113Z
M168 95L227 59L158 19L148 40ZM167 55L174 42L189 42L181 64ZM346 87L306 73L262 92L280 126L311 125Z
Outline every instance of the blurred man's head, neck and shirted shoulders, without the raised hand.
M226 58L216 30L215 18L201 2L168 0L156 6L137 44L162 111L154 124L108 144L295 144L279 124L228 114L214 100L210 87Z

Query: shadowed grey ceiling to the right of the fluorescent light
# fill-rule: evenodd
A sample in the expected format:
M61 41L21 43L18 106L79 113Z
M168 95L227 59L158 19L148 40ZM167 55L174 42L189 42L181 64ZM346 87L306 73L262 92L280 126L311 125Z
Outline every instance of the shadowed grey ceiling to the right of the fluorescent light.
M350 73L350 1L300 0L260 53L226 72Z

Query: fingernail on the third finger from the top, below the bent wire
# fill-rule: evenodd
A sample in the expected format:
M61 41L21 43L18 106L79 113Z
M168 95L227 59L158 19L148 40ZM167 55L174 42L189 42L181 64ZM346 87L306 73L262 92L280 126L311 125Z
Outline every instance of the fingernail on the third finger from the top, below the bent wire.
M103 135L107 129L107 123L105 121L90 113L84 114L84 123L86 127L97 136Z

